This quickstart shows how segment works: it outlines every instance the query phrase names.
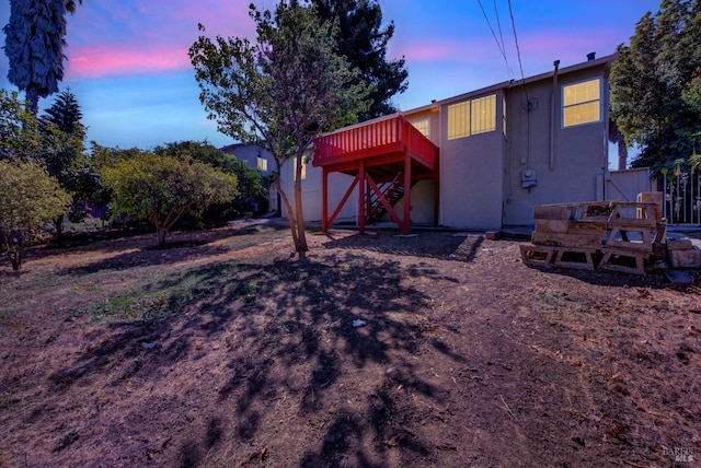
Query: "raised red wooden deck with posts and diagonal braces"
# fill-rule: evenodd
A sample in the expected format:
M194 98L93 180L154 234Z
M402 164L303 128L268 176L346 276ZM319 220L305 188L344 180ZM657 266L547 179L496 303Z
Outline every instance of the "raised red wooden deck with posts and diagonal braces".
M314 167L322 167L322 229L326 231L350 192L359 183L360 200L366 200L368 189L374 190L379 202L387 209L402 233L409 233L412 183L421 179L435 179L435 220L438 213L438 147L414 128L401 115L375 120L366 125L357 125L324 134L315 141ZM338 207L329 217L327 212L327 175L341 172L354 176ZM390 201L381 192L378 184L403 178L404 207L403 217L394 212ZM360 232L365 231L365 222L370 207L360 203L364 212L359 217Z

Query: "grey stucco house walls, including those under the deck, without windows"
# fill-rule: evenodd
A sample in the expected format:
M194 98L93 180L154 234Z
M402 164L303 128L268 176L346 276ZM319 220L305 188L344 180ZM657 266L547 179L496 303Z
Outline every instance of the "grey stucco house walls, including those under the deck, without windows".
M439 225L466 230L532 225L537 204L604 199L608 166L608 67L613 59L609 56L553 69L522 82L496 84L402 113L410 122L425 126L428 138L439 148ZM594 78L600 79L600 119L564 127L563 86ZM489 95L496 96L494 130L449 140L449 106ZM287 178L284 186L291 200L292 169L291 164L287 166L283 172ZM535 173L537 185L522 186L526 169ZM322 169L308 164L307 179L302 183L308 221L322 218L321 178ZM352 179L330 174L329 215ZM412 188L413 223L433 223L433 180L423 180ZM338 219L356 220L357 203L356 188ZM402 210L397 211L401 217Z

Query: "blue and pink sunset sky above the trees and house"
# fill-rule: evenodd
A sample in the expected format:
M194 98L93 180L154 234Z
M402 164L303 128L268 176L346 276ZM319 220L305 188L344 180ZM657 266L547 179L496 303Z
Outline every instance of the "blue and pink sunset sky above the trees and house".
M379 0L394 23L388 58L404 57L409 89L393 97L409 110L521 77L613 54L660 0ZM84 0L68 16L65 77L104 147L150 149L175 141L234 143L199 103L187 50L199 34L255 40L251 0ZM272 10L275 0L253 0ZM510 12L509 12L510 3ZM10 0L0 0L0 24ZM512 21L513 17L513 21ZM0 33L4 45L4 34ZM498 42L497 42L498 40ZM518 44L518 47L516 46ZM502 50L504 52L502 52ZM519 60L520 56L520 60ZM16 90L0 54L0 87ZM521 72L522 70L522 72ZM48 108L56 96L42 100Z

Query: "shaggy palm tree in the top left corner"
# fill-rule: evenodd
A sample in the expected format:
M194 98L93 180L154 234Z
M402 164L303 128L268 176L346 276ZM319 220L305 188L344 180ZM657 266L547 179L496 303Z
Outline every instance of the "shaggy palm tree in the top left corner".
M39 97L56 93L64 79L66 13L74 10L72 0L10 0L10 21L2 28L8 80L26 92L34 114Z

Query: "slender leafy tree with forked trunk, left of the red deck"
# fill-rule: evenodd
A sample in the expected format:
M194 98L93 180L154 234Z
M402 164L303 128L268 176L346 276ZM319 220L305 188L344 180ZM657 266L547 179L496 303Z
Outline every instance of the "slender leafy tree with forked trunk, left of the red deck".
M322 130L366 112L368 89L357 70L334 52L337 28L319 24L313 7L280 2L275 13L251 5L257 44L200 36L189 49L199 100L225 134L265 147L275 160L274 187L287 209L295 250L307 251L301 198L304 151ZM200 25L200 31L204 26ZM295 209L279 173L294 160Z

